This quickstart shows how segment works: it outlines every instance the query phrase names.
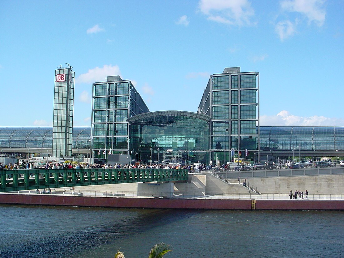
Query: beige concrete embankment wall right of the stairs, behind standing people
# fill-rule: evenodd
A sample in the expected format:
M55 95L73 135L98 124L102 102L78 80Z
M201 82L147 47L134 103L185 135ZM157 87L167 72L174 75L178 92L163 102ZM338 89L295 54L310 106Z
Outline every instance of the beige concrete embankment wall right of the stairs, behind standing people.
M307 190L309 194L344 194L344 175L248 178L247 182L261 193L289 193L290 190L305 193Z

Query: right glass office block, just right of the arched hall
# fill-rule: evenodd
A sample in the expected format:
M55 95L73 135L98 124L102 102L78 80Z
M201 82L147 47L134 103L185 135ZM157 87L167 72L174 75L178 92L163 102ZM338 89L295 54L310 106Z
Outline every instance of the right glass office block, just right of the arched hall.
M256 153L259 160L259 73L230 67L211 75L197 112L212 117L212 160L230 161L225 149L242 150L248 159Z

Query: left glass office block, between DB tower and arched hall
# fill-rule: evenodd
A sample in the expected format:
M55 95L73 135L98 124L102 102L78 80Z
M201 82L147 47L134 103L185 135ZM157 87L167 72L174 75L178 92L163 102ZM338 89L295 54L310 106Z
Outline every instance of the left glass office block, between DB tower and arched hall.
M130 80L108 76L106 82L93 84L92 96L92 157L106 158L109 151L129 154L127 119L149 112L140 94Z

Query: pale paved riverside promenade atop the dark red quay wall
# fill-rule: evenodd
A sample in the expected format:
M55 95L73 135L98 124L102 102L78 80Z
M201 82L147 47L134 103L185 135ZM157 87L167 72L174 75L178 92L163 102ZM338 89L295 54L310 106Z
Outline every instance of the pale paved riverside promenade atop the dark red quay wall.
M16 191L17 193L28 194L43 194L42 191ZM13 192L12 192L13 193ZM224 194L224 193L212 193L206 195L192 194L192 193L175 193L171 195L169 192L126 192L126 191L89 191L89 190L75 190L70 192L69 190L52 189L52 193L45 195L74 195L74 196L95 196L95 197L122 197L122 198L169 198L169 199L225 199L225 200L290 200L288 194ZM344 200L344 194L309 194L308 199L304 194L303 199L297 199L299 201L308 200Z

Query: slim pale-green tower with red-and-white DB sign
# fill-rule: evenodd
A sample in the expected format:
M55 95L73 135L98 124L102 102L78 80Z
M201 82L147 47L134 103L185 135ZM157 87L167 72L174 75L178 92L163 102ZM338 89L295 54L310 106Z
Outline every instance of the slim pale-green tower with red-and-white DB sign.
M53 157L72 155L74 72L72 66L55 70Z

